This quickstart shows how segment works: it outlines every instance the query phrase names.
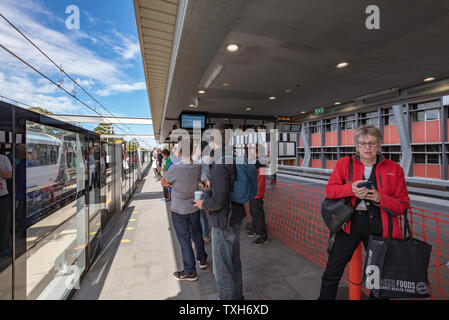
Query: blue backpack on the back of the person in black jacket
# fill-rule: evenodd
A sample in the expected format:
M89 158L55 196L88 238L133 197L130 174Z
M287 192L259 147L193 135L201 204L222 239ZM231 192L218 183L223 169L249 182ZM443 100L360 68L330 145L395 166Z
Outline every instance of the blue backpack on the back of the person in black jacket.
M243 204L253 200L257 194L256 165L248 164L248 160L245 158L244 163L235 164L235 171L235 180L230 195L231 201Z

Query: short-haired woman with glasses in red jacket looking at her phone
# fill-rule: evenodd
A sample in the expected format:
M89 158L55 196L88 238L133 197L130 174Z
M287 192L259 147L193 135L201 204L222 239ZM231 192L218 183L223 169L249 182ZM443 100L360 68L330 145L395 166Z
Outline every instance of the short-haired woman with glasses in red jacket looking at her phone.
M373 125L361 126L354 134L354 142L357 152L352 156L353 182L348 183L350 157L344 157L338 160L326 186L329 199L350 197L354 214L335 237L323 273L319 300L335 299L346 264L360 242L366 248L371 234L388 236L388 213L383 208L401 215L410 207L403 169L379 152L382 132ZM370 189L358 187L367 181ZM392 237L402 237L397 217L393 217Z

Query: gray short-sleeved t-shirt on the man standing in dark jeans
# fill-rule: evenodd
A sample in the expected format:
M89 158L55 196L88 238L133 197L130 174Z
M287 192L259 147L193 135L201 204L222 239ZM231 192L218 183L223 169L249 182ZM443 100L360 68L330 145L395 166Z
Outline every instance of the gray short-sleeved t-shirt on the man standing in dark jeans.
M189 214L199 210L193 206L193 200L201 178L200 164L172 164L164 177L173 184L170 206L173 212Z

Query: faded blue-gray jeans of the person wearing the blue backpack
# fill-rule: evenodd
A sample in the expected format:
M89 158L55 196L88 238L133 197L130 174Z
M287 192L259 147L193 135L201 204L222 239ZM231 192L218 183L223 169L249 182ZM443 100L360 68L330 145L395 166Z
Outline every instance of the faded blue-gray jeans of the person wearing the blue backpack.
M242 300L242 263L240 261L240 227L212 227L211 247L213 272L220 300Z

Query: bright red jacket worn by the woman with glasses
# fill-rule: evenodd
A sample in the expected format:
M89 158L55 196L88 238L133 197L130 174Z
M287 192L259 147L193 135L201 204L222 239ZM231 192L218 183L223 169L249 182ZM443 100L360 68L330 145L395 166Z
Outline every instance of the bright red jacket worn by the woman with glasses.
M364 180L363 174L365 166L359 161L358 156L353 156L353 178L352 181ZM334 171L326 186L326 194L329 199L340 199L351 197L354 206L356 197L352 192L352 183L349 180L349 157L341 158L337 161ZM343 181L345 184L343 184ZM404 209L410 208L410 198L407 192L404 170L394 161L386 160L382 155L378 156L376 166L376 181L380 194L380 207L389 209L398 215L403 214ZM382 236L388 236L388 213L381 209ZM343 229L350 233L351 223ZM399 225L399 218L393 217L393 238L401 239L402 232Z

